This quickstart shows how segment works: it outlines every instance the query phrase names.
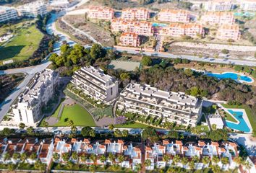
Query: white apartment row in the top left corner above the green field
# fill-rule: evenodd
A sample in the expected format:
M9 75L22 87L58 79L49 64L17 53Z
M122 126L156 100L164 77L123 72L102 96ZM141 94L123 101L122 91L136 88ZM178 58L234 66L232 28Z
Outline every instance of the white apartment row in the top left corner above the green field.
M37 17L47 13L46 4L43 1L33 1L17 8L9 6L0 6L0 22L5 22L18 17Z

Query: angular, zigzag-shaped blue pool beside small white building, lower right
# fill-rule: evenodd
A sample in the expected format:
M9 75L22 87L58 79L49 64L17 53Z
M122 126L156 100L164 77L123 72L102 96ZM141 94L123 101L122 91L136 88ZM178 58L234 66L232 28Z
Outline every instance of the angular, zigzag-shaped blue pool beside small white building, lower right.
M226 121L226 126L228 126L229 128L232 128L234 130L239 130L239 131L249 133L250 129L249 129L247 123L245 122L244 118L243 118L243 112L233 111L233 110L228 110L228 111L232 115L234 115L234 117L236 117L236 120L239 121L239 124L230 123L230 122Z

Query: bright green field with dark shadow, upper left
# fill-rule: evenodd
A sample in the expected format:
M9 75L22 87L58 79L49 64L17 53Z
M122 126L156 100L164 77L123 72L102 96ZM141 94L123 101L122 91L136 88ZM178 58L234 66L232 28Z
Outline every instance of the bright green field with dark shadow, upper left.
M43 33L35 25L17 30L14 38L0 48L0 61L9 59L22 61L28 59L38 49L42 38Z

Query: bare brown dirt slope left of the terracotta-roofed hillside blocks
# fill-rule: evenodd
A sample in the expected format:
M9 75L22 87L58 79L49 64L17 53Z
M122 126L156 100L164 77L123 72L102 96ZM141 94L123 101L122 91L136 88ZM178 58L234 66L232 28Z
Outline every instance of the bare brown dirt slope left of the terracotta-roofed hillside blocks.
M85 21L84 15L65 16L64 19L75 28L87 32L103 46L114 46L114 37L111 36L111 32L93 22Z

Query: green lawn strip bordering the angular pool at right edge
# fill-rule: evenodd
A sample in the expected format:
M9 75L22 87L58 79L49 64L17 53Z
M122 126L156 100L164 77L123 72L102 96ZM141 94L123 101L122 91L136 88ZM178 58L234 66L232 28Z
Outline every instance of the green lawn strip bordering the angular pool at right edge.
M223 107L228 109L244 109L247 117L249 119L249 123L252 125L253 133L256 135L256 112L252 110L248 105L228 105L222 104Z

